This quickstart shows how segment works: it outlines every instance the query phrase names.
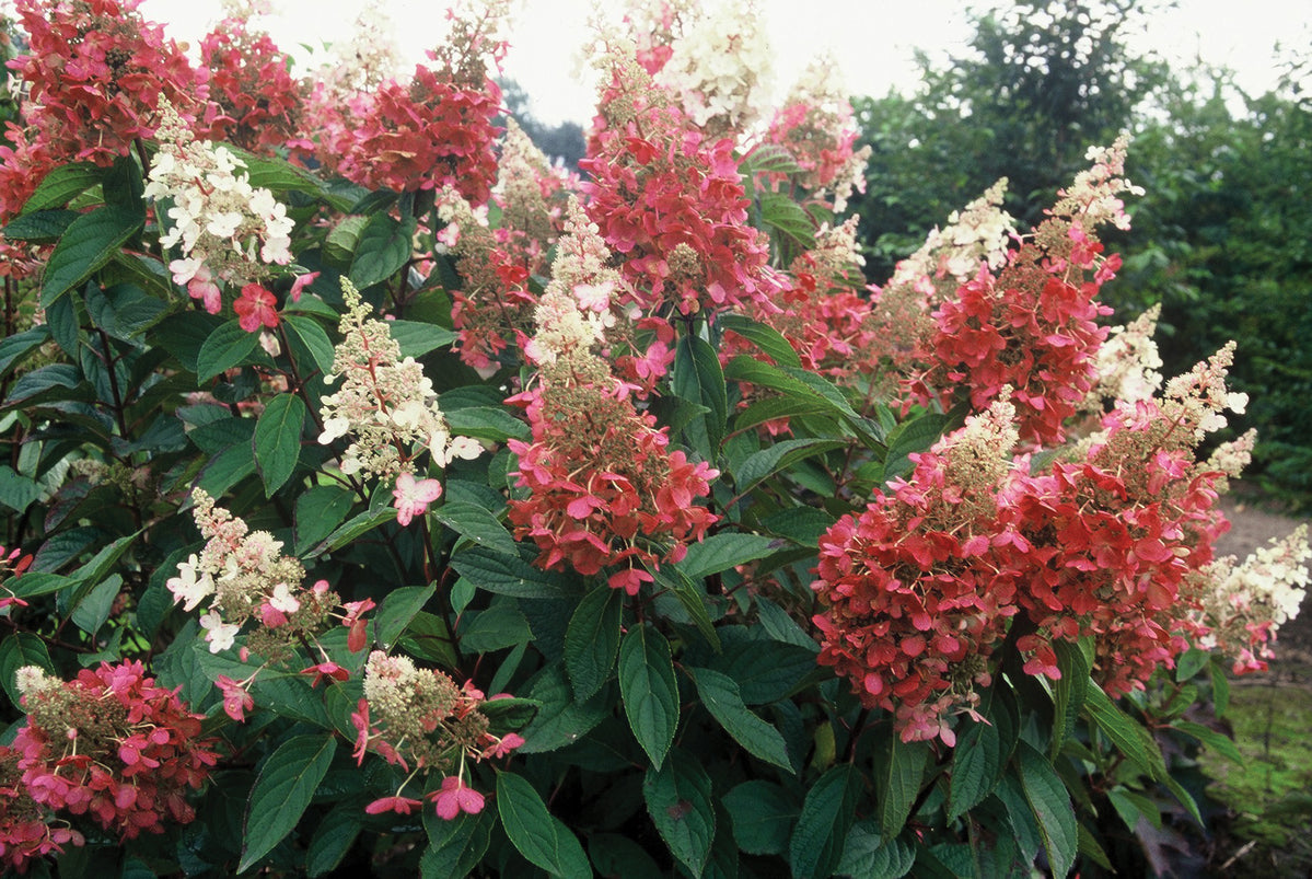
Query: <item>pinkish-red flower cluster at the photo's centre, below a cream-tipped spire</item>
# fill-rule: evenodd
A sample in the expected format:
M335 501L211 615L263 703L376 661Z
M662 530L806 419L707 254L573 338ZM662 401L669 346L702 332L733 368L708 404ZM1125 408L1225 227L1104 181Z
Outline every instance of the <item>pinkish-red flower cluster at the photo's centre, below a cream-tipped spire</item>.
M618 383L617 383L618 384ZM678 562L716 516L694 504L719 475L706 462L669 451L651 415L639 415L619 387L539 388L523 395L533 442L510 440L520 458L510 501L516 538L531 537L543 568L565 564L583 575L625 565L610 585L638 594L656 567Z

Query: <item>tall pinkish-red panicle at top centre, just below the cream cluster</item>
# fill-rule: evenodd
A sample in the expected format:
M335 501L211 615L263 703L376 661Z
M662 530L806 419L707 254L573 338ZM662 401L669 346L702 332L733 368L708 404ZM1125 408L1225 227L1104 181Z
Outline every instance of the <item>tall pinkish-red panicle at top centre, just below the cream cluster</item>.
M765 234L748 224L733 142L708 142L636 64L617 67L579 163L588 214L652 314L769 304L779 283Z

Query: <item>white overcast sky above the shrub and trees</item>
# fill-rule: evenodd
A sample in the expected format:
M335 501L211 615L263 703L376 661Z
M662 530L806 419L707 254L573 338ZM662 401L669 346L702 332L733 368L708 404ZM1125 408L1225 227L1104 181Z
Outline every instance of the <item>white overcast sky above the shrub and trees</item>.
M711 0L714 1L714 0ZM144 0L142 13L168 25L181 41L197 41L219 17L220 0ZM299 45L344 39L363 0L270 0L276 14L261 18L278 45L304 56ZM967 4L954 0L760 0L766 33L777 51L781 88L813 56L830 50L853 93L882 96L916 84L913 51L959 52L971 35ZM419 60L445 31L442 0L387 0L398 45ZM1242 7L1242 8L1241 8ZM575 55L586 38L592 0L520 0L505 75L529 93L543 122L592 115L594 85ZM1224 64L1250 92L1277 76L1274 46L1312 42L1309 0L1178 0L1138 35L1143 46L1172 60L1202 58Z

